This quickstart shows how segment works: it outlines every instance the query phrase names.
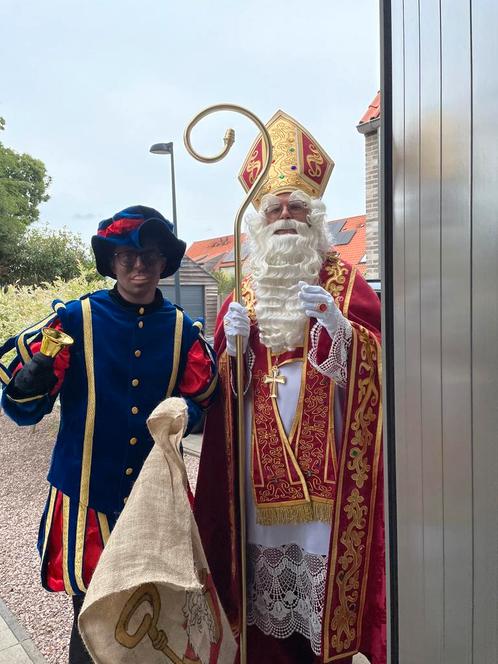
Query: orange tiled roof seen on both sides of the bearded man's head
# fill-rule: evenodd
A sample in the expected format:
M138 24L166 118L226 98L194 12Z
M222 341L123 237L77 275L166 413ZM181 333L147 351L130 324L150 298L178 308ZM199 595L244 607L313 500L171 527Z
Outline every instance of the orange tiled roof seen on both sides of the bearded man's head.
M364 214L328 222L329 229L334 237L334 247L339 256L351 265L356 265L362 273L366 269L366 264L362 262L366 251L365 224L366 215ZM226 242L227 239L229 239L229 242ZM223 243L218 241L223 241ZM242 234L241 241L241 254L244 260L249 250L245 234ZM199 250L199 248L202 249ZM224 251L220 251L220 248ZM199 256L198 260L194 258L195 255ZM220 238L194 242L187 249L187 256L209 270L233 267L233 236L225 235Z

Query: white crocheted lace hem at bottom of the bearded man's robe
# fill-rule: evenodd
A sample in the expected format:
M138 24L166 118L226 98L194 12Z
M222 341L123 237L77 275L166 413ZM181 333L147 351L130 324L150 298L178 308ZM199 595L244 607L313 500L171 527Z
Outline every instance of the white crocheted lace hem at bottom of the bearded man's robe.
M277 639L298 632L320 655L327 556L306 553L297 544L248 544L247 554L247 623Z

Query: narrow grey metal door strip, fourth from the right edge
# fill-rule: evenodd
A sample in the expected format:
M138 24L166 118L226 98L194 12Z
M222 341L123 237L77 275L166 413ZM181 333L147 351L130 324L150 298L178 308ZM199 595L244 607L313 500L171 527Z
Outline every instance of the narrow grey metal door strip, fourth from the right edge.
M404 353L405 441L400 479L410 519L398 519L400 615L409 620L400 629L401 661L419 662L424 645L418 634L424 629L423 476L422 450L413 440L421 438L420 392L420 117L419 117L419 16L415 2L404 3Z

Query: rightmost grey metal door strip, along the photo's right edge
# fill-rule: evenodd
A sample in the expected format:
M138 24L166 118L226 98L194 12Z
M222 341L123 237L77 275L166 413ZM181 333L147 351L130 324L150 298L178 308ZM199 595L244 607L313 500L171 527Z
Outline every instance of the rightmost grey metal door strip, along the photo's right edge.
M474 662L498 662L498 3L474 2Z

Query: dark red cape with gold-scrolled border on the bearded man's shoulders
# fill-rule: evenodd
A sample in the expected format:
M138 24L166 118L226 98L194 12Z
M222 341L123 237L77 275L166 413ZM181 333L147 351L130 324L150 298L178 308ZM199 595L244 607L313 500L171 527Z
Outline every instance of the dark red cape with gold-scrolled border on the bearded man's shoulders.
M320 283L353 325L322 623L322 661L340 662L360 651L372 664L386 664L380 302L361 274L334 255L327 257ZM223 304L216 325L221 385L206 421L195 517L220 600L232 629L238 632L236 405L223 331L223 317L231 301L229 297Z

